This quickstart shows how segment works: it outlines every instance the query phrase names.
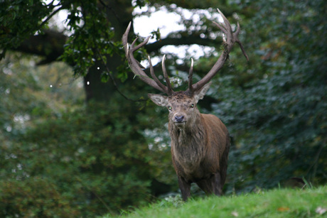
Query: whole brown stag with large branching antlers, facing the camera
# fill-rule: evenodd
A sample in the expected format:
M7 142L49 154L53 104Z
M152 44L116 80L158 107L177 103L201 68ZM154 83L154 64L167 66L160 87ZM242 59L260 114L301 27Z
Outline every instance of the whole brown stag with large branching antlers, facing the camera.
M226 62L232 45L238 43L243 55L247 54L242 43L237 38L240 33L240 25L232 31L230 22L218 9L224 23L215 23L226 36L223 53L215 65L200 81L193 84L193 59L188 75L188 89L174 92L169 81L165 67L165 56L162 60L162 70L166 85L162 84L154 74L154 67L149 57L151 77L146 75L139 62L134 58L134 52L146 45L149 38L135 46L137 38L131 45L127 43L131 23L122 37L125 55L134 75L138 76L147 85L166 93L148 94L155 104L167 107L168 131L171 136L171 156L173 167L178 176L178 185L181 189L183 200L191 196L191 183L195 182L207 195L222 195L223 185L226 180L228 152L230 149L230 135L226 126L217 116L212 114L200 114L196 104L203 99L210 87L210 80L217 74Z

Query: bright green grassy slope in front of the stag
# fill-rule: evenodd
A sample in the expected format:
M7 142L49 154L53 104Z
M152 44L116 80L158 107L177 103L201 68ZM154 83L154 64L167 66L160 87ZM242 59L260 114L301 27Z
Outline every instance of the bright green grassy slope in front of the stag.
M321 208L320 210L318 208ZM247 195L204 197L186 203L170 198L117 217L327 217L327 186L279 189ZM107 215L102 218L109 218Z

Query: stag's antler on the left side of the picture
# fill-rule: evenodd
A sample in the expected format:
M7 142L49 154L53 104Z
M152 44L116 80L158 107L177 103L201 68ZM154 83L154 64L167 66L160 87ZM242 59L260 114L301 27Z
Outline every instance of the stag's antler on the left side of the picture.
M144 67L142 67L142 65L134 58L134 52L139 48L141 48L142 46L146 45L146 43L148 43L149 41L150 36L148 36L146 40L144 40L144 42L134 47L137 40L136 38L133 41L132 45L129 46L127 42L127 38L128 38L129 30L131 28L131 24L132 23L129 22L129 26L127 26L127 29L124 35L122 36L122 43L124 45L126 58L129 62L129 67L131 67L131 70L132 72L134 72L134 75L139 76L139 78L147 85L150 85L151 87L154 87L155 89L158 89L161 92L165 92L166 94L168 94L168 96L171 96L171 94L173 94L173 89L171 88L171 82L169 81L169 77L166 72L166 67L164 63L166 56L164 55L164 58L162 59L162 70L164 72L164 78L166 80L167 86L163 85L159 81L158 77L156 77L156 75L154 74L154 67L152 66L150 57L149 57L149 65L150 65L150 73L152 78L146 75L146 73L143 71Z

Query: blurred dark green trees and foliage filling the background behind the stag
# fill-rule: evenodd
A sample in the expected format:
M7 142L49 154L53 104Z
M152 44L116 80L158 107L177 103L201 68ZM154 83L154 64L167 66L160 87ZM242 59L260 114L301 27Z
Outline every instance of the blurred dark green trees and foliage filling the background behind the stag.
M120 39L133 19L180 16L137 55L166 53L183 89L191 57L199 78L220 53L215 7L250 55L235 48L200 102L234 139L225 192L326 183L324 1L1 1L1 217L93 217L177 192L166 110L144 101L154 90L133 80Z

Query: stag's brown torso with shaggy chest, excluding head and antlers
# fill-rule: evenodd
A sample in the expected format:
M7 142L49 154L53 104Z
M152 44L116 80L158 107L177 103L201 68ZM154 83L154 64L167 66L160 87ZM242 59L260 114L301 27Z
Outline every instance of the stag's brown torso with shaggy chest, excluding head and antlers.
M220 173L225 182L229 133L217 116L200 114L198 125L180 131L169 129L171 156L179 177L186 182L199 182Z

